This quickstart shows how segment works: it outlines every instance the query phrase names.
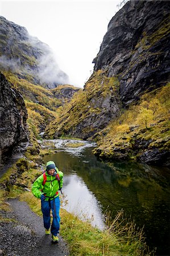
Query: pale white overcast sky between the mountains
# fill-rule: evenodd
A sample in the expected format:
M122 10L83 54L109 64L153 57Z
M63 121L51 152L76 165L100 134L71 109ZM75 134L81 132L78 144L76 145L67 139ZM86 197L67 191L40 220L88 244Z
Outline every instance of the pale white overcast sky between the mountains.
M121 2L0 0L0 14L48 44L69 84L82 88L93 73L92 61Z

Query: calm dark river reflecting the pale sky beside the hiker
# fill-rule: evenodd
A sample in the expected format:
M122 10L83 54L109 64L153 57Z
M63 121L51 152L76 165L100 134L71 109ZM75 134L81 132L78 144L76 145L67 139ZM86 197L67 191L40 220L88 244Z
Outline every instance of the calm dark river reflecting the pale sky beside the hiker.
M106 209L113 218L123 209L137 226L144 225L147 244L157 247L156 255L169 255L169 170L132 162L103 163L89 144L65 150L61 140L57 143L59 150L44 156L44 163L53 160L64 172L65 209L90 218L101 229Z

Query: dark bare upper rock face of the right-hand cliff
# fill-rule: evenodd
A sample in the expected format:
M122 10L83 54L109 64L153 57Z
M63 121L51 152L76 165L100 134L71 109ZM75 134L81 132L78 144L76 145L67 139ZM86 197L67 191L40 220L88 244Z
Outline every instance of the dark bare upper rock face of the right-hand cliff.
M169 80L168 1L129 1L111 19L94 71L118 76L124 106Z

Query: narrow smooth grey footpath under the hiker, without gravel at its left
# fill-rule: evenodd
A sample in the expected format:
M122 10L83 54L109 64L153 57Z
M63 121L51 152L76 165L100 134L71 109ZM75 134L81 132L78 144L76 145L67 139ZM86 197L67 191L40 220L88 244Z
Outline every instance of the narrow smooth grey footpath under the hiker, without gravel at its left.
M51 242L51 235L45 236L45 229L43 226L43 218L37 216L31 211L26 202L19 201L18 199L12 199L8 201L14 210L16 219L22 225L31 230L32 236L34 236L34 244L32 250L28 251L28 254L24 255L41 255L41 256L63 256L69 255L67 245L63 239L59 236L59 243L54 244ZM10 254L12 255L12 254ZM20 254L17 254L20 255Z

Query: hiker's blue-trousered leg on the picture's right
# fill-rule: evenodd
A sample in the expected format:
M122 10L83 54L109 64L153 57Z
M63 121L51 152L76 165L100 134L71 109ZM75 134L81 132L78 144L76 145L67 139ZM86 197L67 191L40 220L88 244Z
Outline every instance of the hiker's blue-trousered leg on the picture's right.
M59 196L56 197L55 199L51 200L51 209L52 209L52 216L53 216L53 221L52 221L52 225L51 225L51 234L53 234L53 236L57 236L57 234L59 233L59 229L60 229L60 215L59 215L60 199L59 199Z

